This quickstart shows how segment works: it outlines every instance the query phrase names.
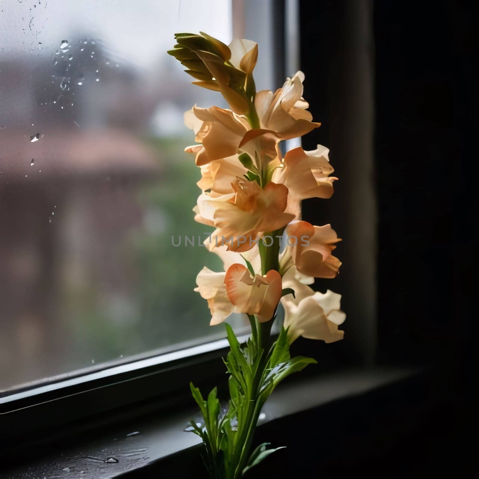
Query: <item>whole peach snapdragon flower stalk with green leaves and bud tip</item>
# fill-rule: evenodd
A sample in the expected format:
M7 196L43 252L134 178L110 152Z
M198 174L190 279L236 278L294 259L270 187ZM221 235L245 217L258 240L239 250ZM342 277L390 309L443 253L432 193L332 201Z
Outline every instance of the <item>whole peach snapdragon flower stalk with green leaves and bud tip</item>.
M204 33L175 38L177 45L168 53L187 68L194 84L219 91L231 108L194 106L185 114L197 142L186 151L195 154L202 174L195 220L215 228L205 246L220 256L225 270L203 268L195 291L208 302L211 325L243 313L251 323L251 337L239 344L225 323L228 407L220 407L217 388L204 399L191 383L203 423L191 421L187 430L202 438L211 478L236 479L278 449L264 443L251 452L260 412L274 388L316 363L304 356L291 358L291 343L299 336L325 342L343 337L338 329L345 319L341 296L308 286L315 277L338 274L341 262L332 251L340 239L330 225L300 220L301 201L331 197L337 178L331 176L327 148L294 148L284 158L279 148L280 141L319 126L302 97L302 72L275 92L256 92L255 42L237 39L227 46ZM285 320L273 339L280 302Z

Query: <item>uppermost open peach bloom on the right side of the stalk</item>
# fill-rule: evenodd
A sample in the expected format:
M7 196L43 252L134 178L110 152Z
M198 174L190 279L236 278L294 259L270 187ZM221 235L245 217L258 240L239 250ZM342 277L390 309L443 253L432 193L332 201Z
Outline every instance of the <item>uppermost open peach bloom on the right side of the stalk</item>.
M300 137L320 125L312 122L306 110L309 105L302 97L303 81L304 73L298 71L274 93L262 90L256 94L254 104L261 127L277 132L282 140Z

